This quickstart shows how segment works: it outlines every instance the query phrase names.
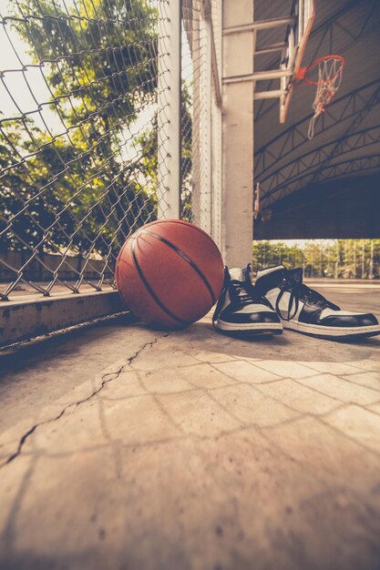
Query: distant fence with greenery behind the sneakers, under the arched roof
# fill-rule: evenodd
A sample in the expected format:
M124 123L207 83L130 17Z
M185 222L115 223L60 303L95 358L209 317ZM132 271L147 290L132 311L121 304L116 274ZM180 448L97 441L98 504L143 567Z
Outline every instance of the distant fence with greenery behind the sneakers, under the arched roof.
M254 241L254 272L302 267L306 278L380 279L380 239Z

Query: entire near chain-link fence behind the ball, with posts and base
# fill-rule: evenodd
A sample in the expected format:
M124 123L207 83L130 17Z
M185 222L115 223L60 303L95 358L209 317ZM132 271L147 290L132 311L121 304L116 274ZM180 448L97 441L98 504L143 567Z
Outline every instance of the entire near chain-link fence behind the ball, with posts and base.
M221 0L0 0L0 45L4 343L122 310L118 251L151 220L220 242Z

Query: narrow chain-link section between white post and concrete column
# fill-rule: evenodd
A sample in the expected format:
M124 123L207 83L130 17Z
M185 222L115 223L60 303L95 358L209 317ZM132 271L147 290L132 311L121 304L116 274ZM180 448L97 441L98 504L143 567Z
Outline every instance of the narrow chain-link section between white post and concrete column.
M221 0L182 2L181 216L221 242Z

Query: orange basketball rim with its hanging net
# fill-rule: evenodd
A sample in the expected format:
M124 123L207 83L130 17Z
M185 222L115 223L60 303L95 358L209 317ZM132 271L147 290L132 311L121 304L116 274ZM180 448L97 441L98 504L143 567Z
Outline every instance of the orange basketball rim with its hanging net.
M313 101L314 114L307 133L309 139L314 136L316 119L324 113L341 86L343 69L343 56L324 56L316 59L311 66L301 67L297 74L297 81L317 87Z

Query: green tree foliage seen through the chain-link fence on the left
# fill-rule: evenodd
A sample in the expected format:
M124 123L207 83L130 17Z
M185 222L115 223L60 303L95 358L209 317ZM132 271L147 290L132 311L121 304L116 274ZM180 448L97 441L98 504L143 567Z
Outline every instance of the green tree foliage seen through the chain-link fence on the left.
M155 100L156 9L145 0L85 0L67 17L65 3L22 0L14 12L34 63L44 62L62 128L52 137L30 119L3 122L0 249L109 255L155 215L144 170L122 147L126 128Z

